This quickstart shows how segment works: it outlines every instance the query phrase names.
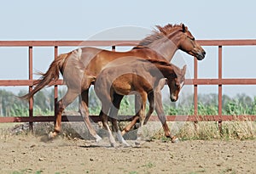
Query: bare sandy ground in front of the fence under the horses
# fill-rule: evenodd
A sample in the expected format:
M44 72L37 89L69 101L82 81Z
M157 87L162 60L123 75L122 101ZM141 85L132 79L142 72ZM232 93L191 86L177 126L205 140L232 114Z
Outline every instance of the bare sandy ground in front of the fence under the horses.
M133 140L128 140L133 143ZM154 140L111 148L79 138L0 138L1 173L256 173L256 141Z

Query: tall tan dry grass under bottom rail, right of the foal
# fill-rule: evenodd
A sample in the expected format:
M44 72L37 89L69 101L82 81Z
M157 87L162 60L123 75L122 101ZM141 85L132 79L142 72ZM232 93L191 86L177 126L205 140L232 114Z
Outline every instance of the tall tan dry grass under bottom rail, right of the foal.
M256 122L255 121L224 121L222 123L222 129L218 128L218 122L201 121L198 123L194 122L180 122L169 123L172 127L172 132L178 138L182 140L191 139L255 139L256 138ZM160 129L156 132L154 138L162 138L164 132Z

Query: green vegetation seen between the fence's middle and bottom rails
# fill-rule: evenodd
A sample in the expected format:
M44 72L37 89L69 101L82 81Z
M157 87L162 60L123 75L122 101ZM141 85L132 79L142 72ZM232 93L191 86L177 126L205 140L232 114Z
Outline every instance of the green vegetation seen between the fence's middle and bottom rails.
M25 92L20 92L19 95ZM28 116L28 103L15 98L14 94L0 90L3 101L0 108L2 116ZM50 94L50 95L49 95ZM53 92L43 90L35 95L34 115L54 115ZM60 94L61 98L61 94ZM125 96L121 102L119 115L134 115L134 96ZM172 103L169 99L163 101L166 115L194 115L193 95L183 96L178 103ZM215 93L198 95L198 115L218 115L218 95ZM78 111L79 100L76 99L67 107L67 110ZM148 104L147 104L148 107ZM90 90L90 115L98 115L101 102L96 98L93 90ZM237 94L234 98L223 96L223 115L256 115L256 97L250 98L245 94ZM154 112L155 115L155 112Z

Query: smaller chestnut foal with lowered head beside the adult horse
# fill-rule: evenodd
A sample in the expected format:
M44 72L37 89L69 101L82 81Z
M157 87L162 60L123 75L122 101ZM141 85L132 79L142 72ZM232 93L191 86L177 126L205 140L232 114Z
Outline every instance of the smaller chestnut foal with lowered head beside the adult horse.
M113 122L113 131L117 132L119 143L125 142L117 124L117 114L120 102L125 95L138 94L142 98L142 105L138 111L140 128L149 119L154 110L154 89L159 81L166 78L172 102L177 101L178 93L183 87L186 65L183 69L158 59L139 59L137 57L125 57L111 62L102 72L96 76L94 89L102 102L100 118L108 131L111 146L116 147L113 134L108 126L108 115ZM149 114L145 116L146 102L149 102ZM109 113L109 114L108 114ZM177 141L177 138L172 138ZM141 134L137 132L136 144L139 145Z

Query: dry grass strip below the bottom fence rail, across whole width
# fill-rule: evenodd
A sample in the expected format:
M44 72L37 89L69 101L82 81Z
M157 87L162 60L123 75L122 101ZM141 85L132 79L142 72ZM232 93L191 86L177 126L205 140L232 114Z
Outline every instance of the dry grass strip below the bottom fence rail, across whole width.
M127 122L122 122L120 127L124 127ZM0 124L0 138L6 138L17 134L28 134L28 124ZM193 139L255 139L256 138L256 121L224 121L222 129L219 130L218 122L201 121L194 122L169 122L173 135L181 140ZM100 124L94 124L98 134L107 137L107 133ZM35 136L47 136L54 128L53 123L34 123L33 133ZM143 135L147 139L162 139L167 141L159 121L148 122L143 128ZM137 130L133 130L125 138L136 138ZM64 138L84 138L92 139L83 122L64 122L60 134Z

